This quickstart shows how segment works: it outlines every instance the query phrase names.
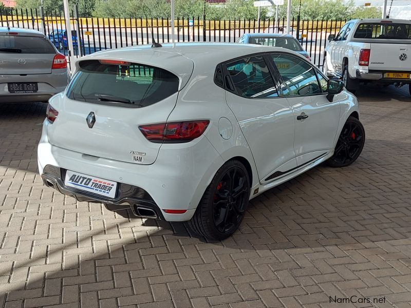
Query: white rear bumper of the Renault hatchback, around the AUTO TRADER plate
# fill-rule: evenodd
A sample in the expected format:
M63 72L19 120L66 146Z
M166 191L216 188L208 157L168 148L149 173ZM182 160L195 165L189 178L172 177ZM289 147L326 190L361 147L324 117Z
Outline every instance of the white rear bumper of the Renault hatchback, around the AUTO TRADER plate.
M144 204L157 206L158 216L166 221L190 220L215 172L223 164L221 156L206 137L200 137L190 143L163 144L156 162L151 165L142 165L90 157L56 147L48 141L48 125L53 124L49 124L48 121L44 122L38 146L39 171L44 179L49 178L50 172L46 167L51 165L63 172L72 170L115 181L120 186L138 187L152 199L151 202ZM136 201L135 196L130 200L122 200L124 197L122 194L116 196L116 199L102 199L100 196L85 194L82 190L67 188L64 186L64 173L60 174L60 178L54 177L52 180L58 184L56 189L62 194L73 196L78 200L94 200L118 207L121 207L123 203L132 204ZM150 198L143 198L143 201L146 202ZM183 214L167 214L164 209L185 209L186 211Z

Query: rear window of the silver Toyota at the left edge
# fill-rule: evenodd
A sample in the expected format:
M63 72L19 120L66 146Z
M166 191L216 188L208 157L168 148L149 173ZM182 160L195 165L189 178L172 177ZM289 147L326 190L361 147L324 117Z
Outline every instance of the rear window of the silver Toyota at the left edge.
M55 53L46 37L0 35L0 53Z

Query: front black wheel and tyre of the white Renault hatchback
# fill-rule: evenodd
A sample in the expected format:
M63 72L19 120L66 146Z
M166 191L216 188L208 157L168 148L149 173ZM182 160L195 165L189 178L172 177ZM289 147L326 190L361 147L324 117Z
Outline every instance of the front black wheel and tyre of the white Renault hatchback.
M327 160L327 164L334 168L351 165L360 156L364 142L364 126L360 120L348 117L335 145L334 155Z

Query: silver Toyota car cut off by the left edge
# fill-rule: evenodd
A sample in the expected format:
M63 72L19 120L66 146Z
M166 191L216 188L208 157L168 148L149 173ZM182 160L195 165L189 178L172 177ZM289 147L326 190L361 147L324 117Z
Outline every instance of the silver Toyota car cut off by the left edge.
M0 27L0 103L47 102L68 81L66 57L44 34Z

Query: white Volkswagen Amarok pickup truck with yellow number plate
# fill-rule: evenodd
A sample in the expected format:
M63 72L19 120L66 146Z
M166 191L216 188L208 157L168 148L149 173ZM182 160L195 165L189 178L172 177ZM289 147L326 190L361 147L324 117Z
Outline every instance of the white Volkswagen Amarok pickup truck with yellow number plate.
M411 93L411 21L352 20L328 41L323 72L342 78L347 90L373 82L408 85Z

